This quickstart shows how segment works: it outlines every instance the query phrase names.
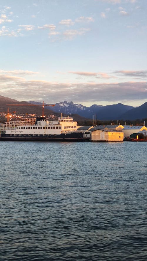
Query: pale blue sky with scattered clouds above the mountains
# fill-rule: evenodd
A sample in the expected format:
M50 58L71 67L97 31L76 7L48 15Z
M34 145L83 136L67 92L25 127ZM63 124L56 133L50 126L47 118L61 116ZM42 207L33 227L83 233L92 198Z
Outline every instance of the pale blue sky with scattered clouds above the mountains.
M146 0L1 0L0 95L147 102Z

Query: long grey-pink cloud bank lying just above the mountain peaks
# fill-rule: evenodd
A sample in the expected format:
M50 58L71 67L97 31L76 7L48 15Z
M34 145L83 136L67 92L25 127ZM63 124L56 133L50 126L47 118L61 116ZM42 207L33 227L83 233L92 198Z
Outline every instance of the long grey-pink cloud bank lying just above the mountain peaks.
M1 95L16 100L44 100L56 103L63 100L74 102L144 100L147 98L147 82L111 83L61 83L30 80L0 75ZM11 91L11 92L10 92Z

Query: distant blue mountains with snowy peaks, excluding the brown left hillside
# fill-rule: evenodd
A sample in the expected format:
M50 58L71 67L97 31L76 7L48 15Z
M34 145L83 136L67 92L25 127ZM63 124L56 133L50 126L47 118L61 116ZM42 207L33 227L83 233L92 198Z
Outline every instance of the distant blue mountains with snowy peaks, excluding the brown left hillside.
M34 101L30 101L30 103L41 104L40 102ZM81 104L64 101L56 103L55 106L52 107L52 110L54 112L63 112L64 114L78 114L89 119L93 119L93 115L96 114L96 118L99 120L133 120L147 118L147 102L134 108L133 106L123 105L122 103L106 106L94 104L90 107L86 107Z

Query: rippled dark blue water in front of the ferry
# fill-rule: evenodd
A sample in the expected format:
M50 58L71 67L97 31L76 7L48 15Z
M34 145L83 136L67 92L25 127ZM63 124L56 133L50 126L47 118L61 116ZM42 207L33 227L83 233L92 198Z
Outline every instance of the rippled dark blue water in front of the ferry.
M0 260L147 260L147 143L0 142Z

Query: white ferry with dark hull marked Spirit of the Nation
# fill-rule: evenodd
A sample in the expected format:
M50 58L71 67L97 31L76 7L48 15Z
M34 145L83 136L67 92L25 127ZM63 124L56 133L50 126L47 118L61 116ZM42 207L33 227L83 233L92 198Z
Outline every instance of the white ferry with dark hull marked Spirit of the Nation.
M59 117L55 121L38 117L35 123L28 121L0 124L0 140L10 141L85 141L83 132L77 131L72 117Z

